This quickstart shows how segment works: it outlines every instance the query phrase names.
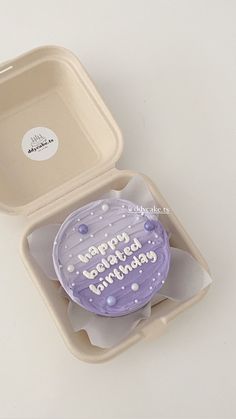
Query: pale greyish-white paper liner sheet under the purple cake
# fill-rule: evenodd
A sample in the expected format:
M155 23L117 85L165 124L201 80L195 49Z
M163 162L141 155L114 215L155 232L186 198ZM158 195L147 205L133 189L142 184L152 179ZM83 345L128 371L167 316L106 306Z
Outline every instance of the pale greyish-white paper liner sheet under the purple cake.
M139 207L158 208L141 176L134 176L121 191L110 191L103 198L122 198ZM168 215L166 215L168 217ZM154 215L155 217L155 215ZM60 224L50 224L34 230L28 237L29 249L48 280L57 280L53 266L52 251ZM169 232L171 234L171 231ZM151 315L151 306L163 299L182 302L190 299L212 282L208 272L188 253L171 248L171 263L168 277L160 292L145 307L121 317L103 317L93 314L68 298L68 316L75 332L85 330L92 345L110 348L125 339L141 321Z

